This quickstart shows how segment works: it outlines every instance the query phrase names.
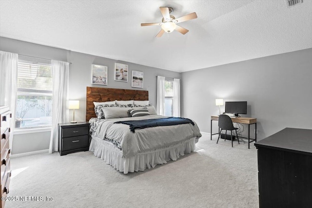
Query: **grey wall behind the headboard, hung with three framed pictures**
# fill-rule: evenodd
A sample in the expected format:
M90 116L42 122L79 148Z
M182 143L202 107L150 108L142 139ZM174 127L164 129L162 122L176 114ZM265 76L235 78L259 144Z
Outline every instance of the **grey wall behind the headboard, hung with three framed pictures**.
M79 100L80 109L75 111L75 120L85 121L86 114L86 87L107 87L119 89L148 90L150 103L156 106L157 78L156 75L181 78L181 74L168 70L143 66L122 60L114 60L104 57L97 57L64 49L24 42L20 40L0 37L0 50L17 53L20 55L55 59L72 62L69 66L69 99ZM129 49L135 50L135 49ZM131 87L131 81L120 82L114 80L115 62L128 65L128 80L131 80L132 71L144 73L143 88ZM91 65L98 64L108 67L108 85L91 84ZM70 119L73 116L70 110ZM12 154L24 153L28 151L39 151L49 148L50 132L28 133L14 136ZM38 143L40 143L38 145Z

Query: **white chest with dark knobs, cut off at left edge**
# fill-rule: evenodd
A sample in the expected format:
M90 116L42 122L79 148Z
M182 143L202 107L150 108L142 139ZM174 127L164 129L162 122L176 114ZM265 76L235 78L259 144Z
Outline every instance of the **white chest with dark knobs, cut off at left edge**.
M0 106L0 190L1 197L5 197L9 193L9 185L11 179L10 168L10 120L12 119L12 113L8 106ZM0 208L3 208L5 201L1 200Z

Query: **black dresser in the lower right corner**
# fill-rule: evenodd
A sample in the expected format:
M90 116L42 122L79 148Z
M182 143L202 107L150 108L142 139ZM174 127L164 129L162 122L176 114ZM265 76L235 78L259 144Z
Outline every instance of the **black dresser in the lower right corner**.
M312 208L312 130L286 128L254 145L260 208Z

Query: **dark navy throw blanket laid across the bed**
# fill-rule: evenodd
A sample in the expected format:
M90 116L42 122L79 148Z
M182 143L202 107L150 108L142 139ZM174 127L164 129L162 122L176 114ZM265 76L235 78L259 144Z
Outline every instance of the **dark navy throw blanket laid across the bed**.
M172 125L189 124L189 123L193 124L193 126L195 125L195 123L192 120L188 118L180 118L180 117L115 122L115 124L129 125L131 132L135 132L135 129L145 129L145 128L156 127L156 126L172 126Z

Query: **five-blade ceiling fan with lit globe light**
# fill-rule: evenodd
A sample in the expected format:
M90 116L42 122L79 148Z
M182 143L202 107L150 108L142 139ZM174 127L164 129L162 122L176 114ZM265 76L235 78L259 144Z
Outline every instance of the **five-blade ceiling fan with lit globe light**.
M189 30L177 25L177 23L197 18L196 13L193 12L191 14L176 19L175 16L170 15L174 11L172 7L159 7L159 9L163 16L160 23L141 23L141 26L161 25L161 30L156 35L157 38L161 37L165 32L171 33L174 30L185 35L187 32L189 32Z

